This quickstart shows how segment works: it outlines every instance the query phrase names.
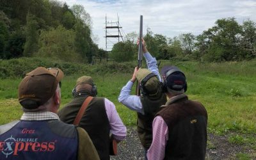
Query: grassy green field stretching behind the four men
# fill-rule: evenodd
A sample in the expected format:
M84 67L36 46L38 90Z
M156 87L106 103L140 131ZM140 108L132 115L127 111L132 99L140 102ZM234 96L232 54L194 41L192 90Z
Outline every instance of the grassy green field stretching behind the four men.
M190 99L202 102L207 109L208 131L227 135L230 143L246 144L246 147L253 150L249 157L255 157L256 61L209 64L162 61L160 68L165 64L175 64L185 72L188 81L186 93ZM120 104L117 97L122 86L131 79L131 75L132 72L99 72L90 75L97 84L98 96L115 103L125 125L136 125L136 113ZM61 107L72 99L72 88L79 76L83 74L74 74L63 79ZM17 120L22 115L17 100L20 80L21 78L13 78L0 81L0 124Z

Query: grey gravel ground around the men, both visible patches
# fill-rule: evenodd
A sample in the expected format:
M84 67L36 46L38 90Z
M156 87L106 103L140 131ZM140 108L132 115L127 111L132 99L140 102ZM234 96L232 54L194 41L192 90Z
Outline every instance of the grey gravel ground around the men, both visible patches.
M215 136L208 134L208 147L205 159L236 159L235 155L239 152L250 154L255 152L244 149L242 146L230 144L227 136ZM144 159L144 150L140 144L136 127L127 127L127 138L118 144L118 155L111 156L111 159Z

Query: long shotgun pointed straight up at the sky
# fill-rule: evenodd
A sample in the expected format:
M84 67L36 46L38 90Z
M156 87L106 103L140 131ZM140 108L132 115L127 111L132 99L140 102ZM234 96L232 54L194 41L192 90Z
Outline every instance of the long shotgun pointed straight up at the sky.
M143 54L143 51L142 51L142 26L143 26L143 15L140 16L140 44L139 44L139 49L138 49L138 68L141 67L141 63L142 63L142 54ZM140 96L140 83L136 82L136 95Z

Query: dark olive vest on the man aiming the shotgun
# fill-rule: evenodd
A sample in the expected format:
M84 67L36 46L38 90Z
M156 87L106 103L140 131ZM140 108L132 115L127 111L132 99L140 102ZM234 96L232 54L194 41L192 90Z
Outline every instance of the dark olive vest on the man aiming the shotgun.
M152 143L152 122L154 116L160 110L160 106L166 103L166 95L162 92L159 92L159 95L154 97L141 95L140 101L145 115L137 113L137 131L141 145L148 149Z

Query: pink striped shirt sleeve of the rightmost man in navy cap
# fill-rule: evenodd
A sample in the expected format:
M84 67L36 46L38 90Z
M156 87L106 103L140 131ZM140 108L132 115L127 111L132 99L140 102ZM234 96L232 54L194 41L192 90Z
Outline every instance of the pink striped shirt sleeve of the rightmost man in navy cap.
M153 121L153 141L147 153L148 160L164 159L167 141L168 126L161 116L156 116Z

